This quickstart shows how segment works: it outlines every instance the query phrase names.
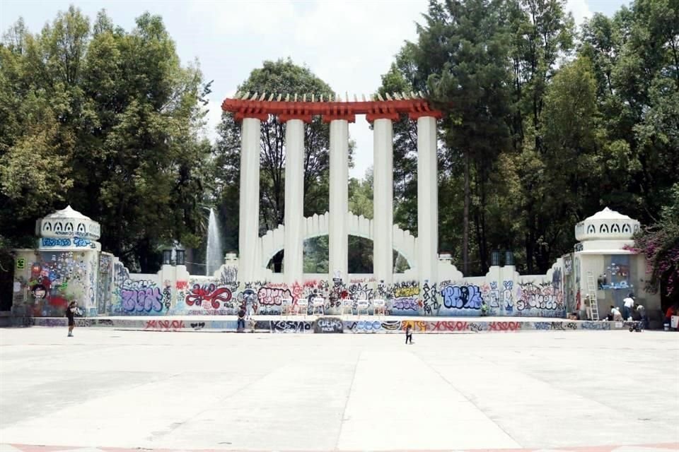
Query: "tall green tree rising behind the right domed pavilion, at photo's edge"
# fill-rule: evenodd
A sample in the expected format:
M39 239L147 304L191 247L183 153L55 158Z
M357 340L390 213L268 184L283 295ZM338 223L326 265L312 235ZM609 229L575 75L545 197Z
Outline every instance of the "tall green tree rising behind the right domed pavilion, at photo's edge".
M584 25L580 52L593 61L608 158L618 162L601 201L644 223L668 202L679 171L678 23L677 1L637 0Z

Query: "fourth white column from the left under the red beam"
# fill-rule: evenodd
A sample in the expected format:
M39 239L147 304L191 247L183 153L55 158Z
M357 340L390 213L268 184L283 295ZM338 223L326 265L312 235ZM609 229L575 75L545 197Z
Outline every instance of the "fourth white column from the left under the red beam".
M394 156L391 119L373 122L373 273L378 283L393 278Z

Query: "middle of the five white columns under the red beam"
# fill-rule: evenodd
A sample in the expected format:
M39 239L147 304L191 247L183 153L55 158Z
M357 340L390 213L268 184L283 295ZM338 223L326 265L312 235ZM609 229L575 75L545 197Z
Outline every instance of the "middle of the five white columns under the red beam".
M347 280L349 271L349 121L330 121L330 218L328 242L330 280L335 272Z

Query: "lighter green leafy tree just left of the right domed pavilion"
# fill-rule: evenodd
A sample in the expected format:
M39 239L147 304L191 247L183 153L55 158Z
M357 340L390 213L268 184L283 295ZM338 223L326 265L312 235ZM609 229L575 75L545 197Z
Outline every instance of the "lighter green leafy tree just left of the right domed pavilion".
M604 179L607 162L600 158L596 82L588 59L559 69L547 86L542 115L541 152L526 145L508 156L513 165L504 171L518 182L509 211L521 229L535 234L525 257L545 271L571 246L573 225L598 208L593 195Z

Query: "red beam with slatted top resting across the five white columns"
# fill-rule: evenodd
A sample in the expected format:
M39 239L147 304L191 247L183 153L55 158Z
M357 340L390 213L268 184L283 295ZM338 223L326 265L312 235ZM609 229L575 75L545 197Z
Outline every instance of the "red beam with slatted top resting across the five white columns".
M431 109L426 99L403 100L371 100L366 102L286 102L284 100L243 100L224 99L221 109L234 114L236 121L243 118L257 118L262 121L274 114L281 122L289 119L301 119L311 122L313 116L323 117L324 122L334 119L356 121L356 114L365 114L368 122L375 119L392 119L397 121L401 114L408 114L410 119L430 116L441 118L439 110Z

